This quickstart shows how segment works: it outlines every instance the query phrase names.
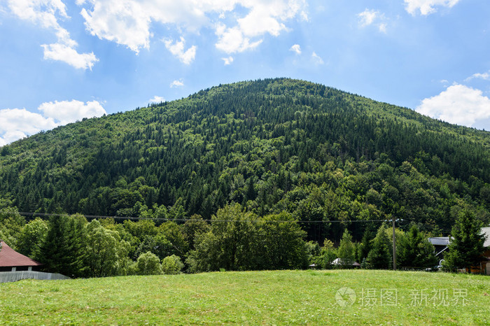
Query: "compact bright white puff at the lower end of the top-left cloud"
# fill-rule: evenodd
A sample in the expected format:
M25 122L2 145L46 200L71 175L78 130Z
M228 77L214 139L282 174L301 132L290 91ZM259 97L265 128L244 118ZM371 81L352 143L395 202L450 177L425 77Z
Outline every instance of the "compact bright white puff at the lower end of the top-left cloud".
M92 70L94 63L99 61L99 59L95 57L94 52L80 54L76 52L75 49L64 44L55 43L50 45L44 44L41 46L44 48L44 59L66 62L76 69Z

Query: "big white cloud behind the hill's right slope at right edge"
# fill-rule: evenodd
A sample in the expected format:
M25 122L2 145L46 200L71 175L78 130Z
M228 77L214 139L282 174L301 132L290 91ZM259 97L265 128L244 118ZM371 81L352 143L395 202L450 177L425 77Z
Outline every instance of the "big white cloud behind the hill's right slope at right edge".
M431 118L471 127L490 118L490 99L481 90L454 84L435 97L423 99L416 111Z

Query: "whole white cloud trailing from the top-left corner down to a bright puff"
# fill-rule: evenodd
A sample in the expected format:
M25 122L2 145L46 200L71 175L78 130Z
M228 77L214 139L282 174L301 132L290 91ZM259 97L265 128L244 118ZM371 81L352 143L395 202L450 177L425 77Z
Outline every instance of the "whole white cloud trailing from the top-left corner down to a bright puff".
M69 18L61 0L8 0L8 8L22 20L55 31L57 43L41 45L44 48L44 59L66 62L76 69L92 69L98 61L93 52L78 53L75 50L78 44L71 39L69 31L59 24L59 17Z

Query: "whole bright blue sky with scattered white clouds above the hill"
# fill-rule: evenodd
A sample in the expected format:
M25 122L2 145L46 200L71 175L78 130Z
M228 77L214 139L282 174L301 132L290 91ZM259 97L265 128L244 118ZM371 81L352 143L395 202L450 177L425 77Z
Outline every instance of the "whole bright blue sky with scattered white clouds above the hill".
M0 146L276 77L490 130L490 1L0 0Z

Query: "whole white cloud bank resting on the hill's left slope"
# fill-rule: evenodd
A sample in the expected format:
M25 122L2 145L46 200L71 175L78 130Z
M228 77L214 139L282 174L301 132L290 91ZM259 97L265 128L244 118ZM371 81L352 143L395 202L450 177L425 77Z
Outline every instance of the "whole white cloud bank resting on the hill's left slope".
M82 118L104 115L106 111L98 101L55 101L41 104L41 113L25 108L5 108L0 110L0 146L18 139L49 130Z

